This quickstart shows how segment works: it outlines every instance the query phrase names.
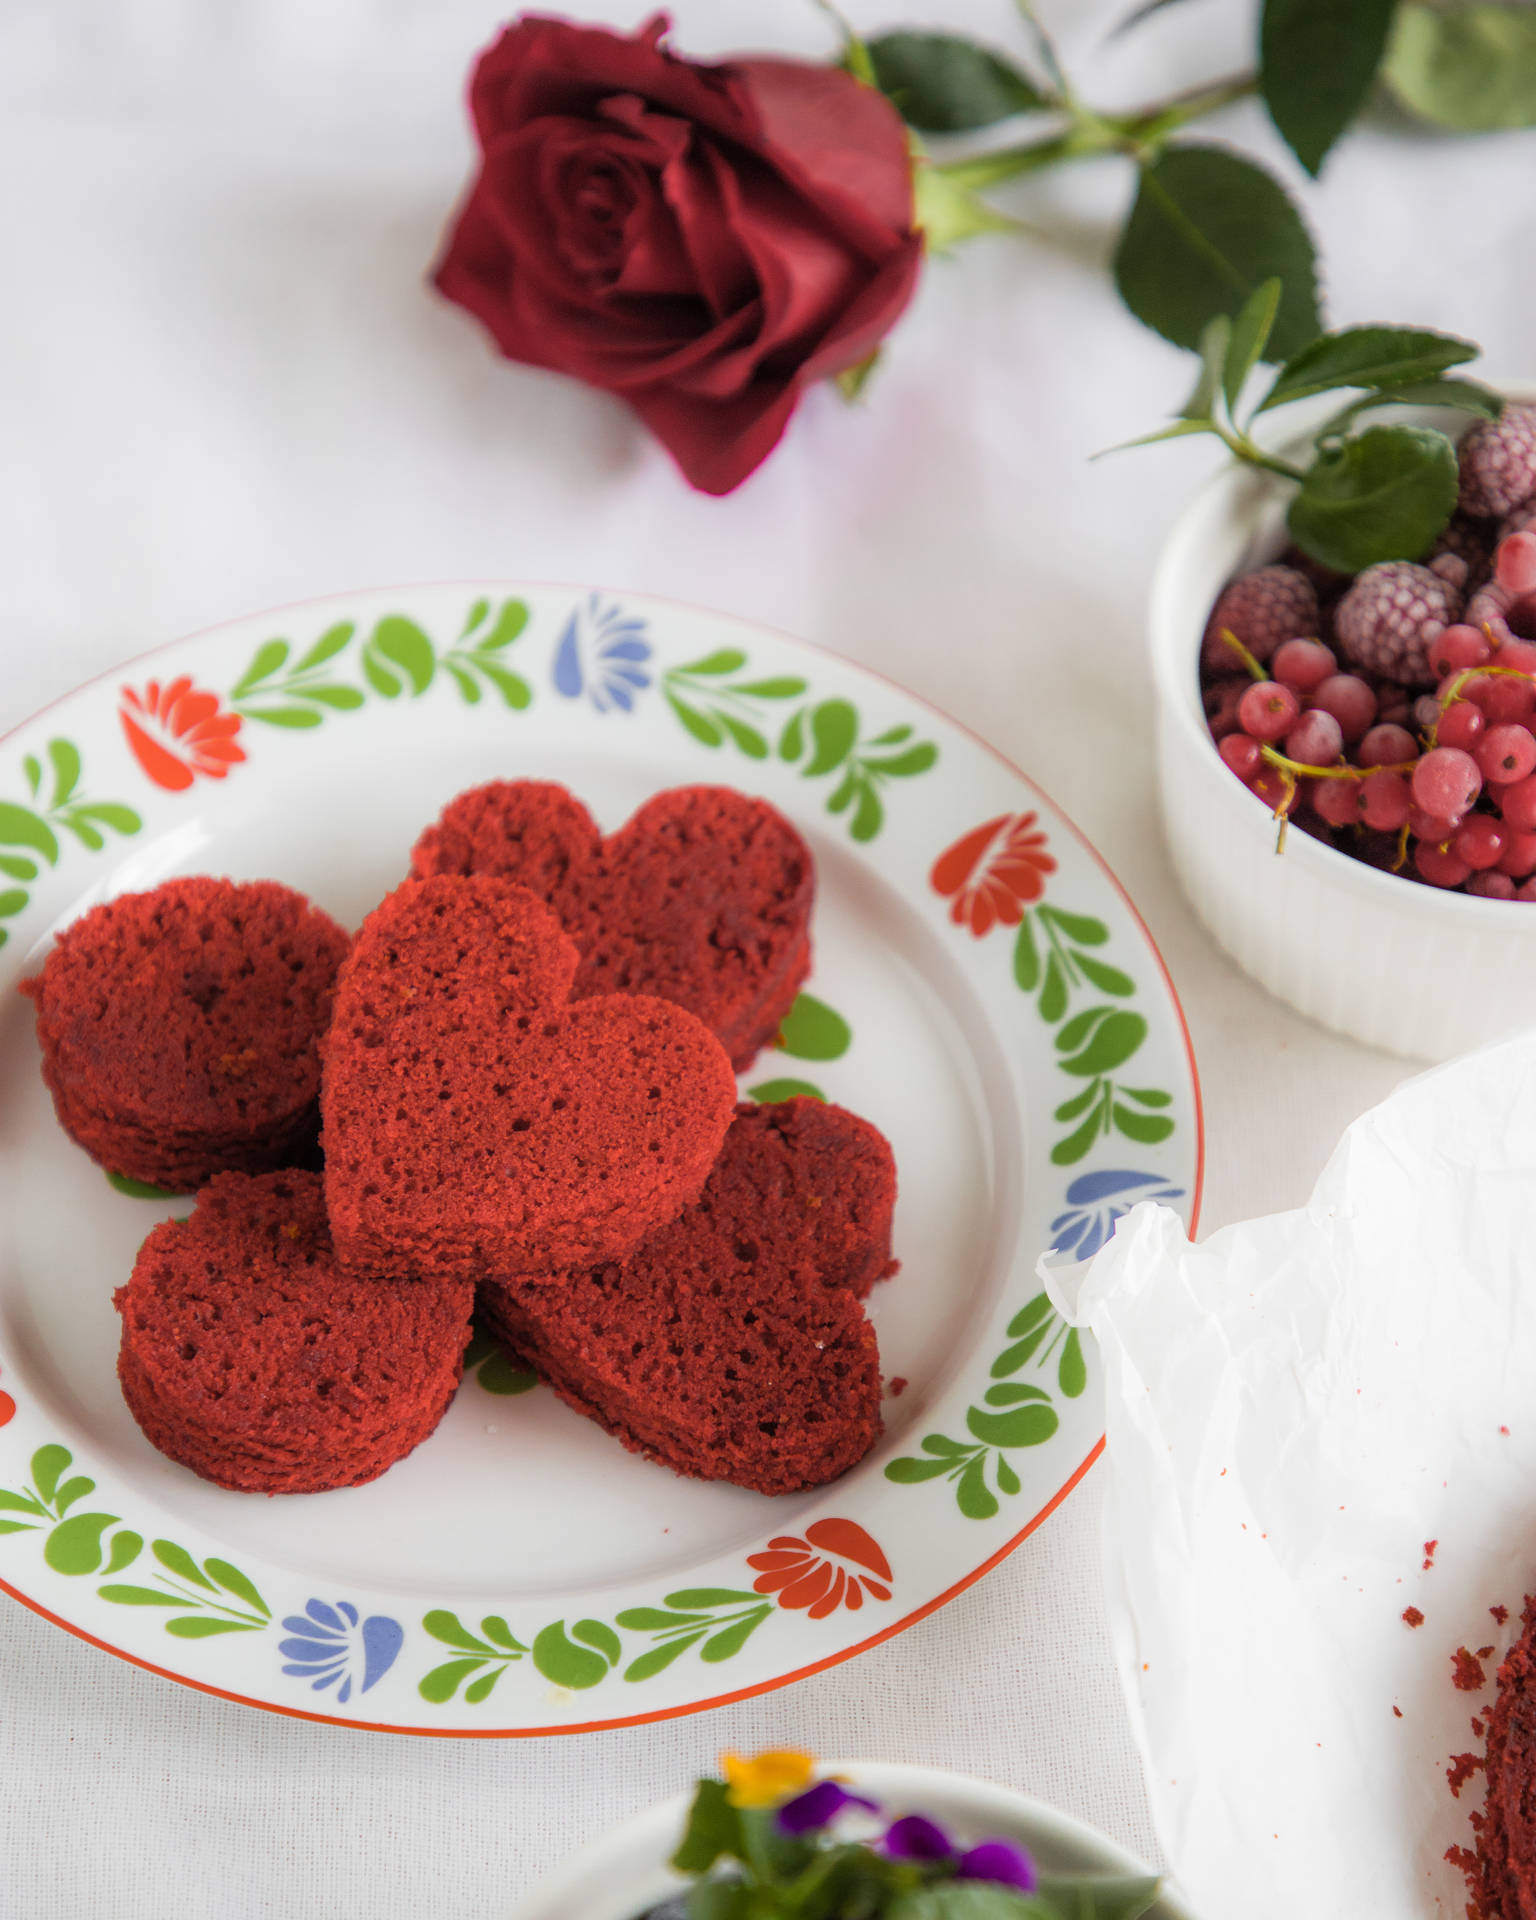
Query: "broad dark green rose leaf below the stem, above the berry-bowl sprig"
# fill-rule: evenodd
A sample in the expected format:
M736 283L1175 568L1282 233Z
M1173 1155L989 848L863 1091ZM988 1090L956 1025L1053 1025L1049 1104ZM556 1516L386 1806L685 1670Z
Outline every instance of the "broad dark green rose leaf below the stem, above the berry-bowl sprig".
M1114 267L1131 313L1181 348L1198 348L1217 313L1235 319L1271 278L1283 292L1263 357L1321 332L1300 213L1279 180L1215 146L1171 146L1142 169Z

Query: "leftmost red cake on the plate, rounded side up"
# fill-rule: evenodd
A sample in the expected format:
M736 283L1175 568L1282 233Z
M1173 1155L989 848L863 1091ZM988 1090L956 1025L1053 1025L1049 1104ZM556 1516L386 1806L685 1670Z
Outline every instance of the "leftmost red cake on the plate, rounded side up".
M169 879L92 906L21 985L60 1125L111 1173L180 1192L313 1152L346 950L276 881Z

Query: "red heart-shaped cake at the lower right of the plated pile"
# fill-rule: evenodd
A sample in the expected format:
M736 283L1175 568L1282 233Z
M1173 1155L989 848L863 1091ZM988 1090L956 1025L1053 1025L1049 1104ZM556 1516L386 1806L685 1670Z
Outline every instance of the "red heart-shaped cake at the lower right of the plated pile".
M697 1206L622 1265L488 1284L507 1350L636 1453L760 1494L822 1486L879 1438L858 1304L891 1265L895 1165L818 1100L737 1110Z

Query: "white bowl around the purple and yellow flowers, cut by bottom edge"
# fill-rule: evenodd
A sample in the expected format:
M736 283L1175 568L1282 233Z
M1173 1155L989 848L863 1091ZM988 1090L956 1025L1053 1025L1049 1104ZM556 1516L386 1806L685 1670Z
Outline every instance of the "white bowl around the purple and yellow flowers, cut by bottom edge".
M1081 1820L987 1780L874 1761L828 1761L820 1770L849 1780L891 1814L927 1812L968 1839L995 1834L1018 1839L1048 1872L1152 1872ZM676 1793L611 1828L524 1893L507 1920L636 1920L647 1907L687 1885L668 1870L666 1857L682 1837L691 1799L691 1791ZM1194 1920L1194 1914L1164 1889L1146 1920Z

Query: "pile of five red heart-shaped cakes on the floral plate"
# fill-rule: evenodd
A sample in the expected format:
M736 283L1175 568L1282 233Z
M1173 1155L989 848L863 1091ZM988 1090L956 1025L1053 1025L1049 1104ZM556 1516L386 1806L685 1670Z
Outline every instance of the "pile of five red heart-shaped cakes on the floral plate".
M563 787L455 799L355 941L273 881L92 908L27 983L60 1123L196 1190L117 1292L148 1440L321 1492L424 1440L470 1315L678 1473L820 1486L879 1434L864 1313L895 1165L820 1100L737 1106L810 970L810 852L726 787L603 837Z

